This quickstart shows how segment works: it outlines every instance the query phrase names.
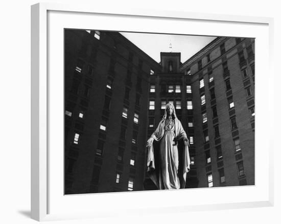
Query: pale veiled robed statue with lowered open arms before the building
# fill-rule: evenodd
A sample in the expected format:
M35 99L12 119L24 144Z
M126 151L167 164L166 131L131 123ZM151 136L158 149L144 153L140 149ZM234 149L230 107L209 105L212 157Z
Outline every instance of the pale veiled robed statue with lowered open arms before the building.
M154 140L160 141L159 152L154 152ZM180 140L184 141L182 147L179 146ZM147 147L148 175L156 187L159 190L185 188L186 173L191 164L189 140L173 104L166 105L165 114L148 139Z

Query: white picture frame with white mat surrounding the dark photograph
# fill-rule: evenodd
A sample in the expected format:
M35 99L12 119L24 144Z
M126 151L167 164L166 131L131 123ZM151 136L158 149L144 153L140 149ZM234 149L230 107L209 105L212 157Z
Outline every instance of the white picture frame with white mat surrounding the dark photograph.
M269 133L262 134L260 132L264 128L270 130L274 118L273 111L270 111L269 107L262 107L263 101L266 101L269 105L273 104L273 88L269 88L270 85L268 85L273 80L272 18L187 13L184 11L115 10L78 4L60 5L46 3L33 5L31 7L31 13L31 217L33 219L42 221L114 217L125 216L128 211L130 211L131 215L136 215L154 212L187 212L273 206L273 148L270 145L272 137ZM72 17L75 17L75 19L72 19ZM96 21L98 19L98 25L91 27L90 19L96 19ZM109 23L111 19L119 19L119 26L115 26L114 28ZM127 23L124 23L124 21L127 21ZM140 21L142 21L142 25L139 25ZM165 27L165 21L169 21L174 26L168 30ZM157 30L155 28L156 26L153 27L149 23L158 24ZM184 23L190 25L188 32L180 28L180 25ZM138 25L136 26L135 24ZM179 25L177 26L177 24ZM217 24L216 26L222 29L214 29L214 27L208 26L210 24ZM230 29L228 28L229 26L233 26L233 28ZM204 29L202 30L200 27ZM251 30L249 30L250 27L252 27ZM61 178L63 166L59 163L61 162L63 164L61 160L63 158L61 157L63 148L60 147L63 141L63 133L59 131L62 127L61 121L63 121L63 113L60 114L61 108L63 107L60 101L63 98L63 72L61 72L63 71L61 70L63 66L60 65L61 56L63 57L63 51L61 51L63 49L62 28L255 37L255 186L189 189L189 191L182 189L178 191L120 192L69 196L61 194L63 192L61 188L61 184L63 183L63 178ZM52 46L57 51L53 51ZM56 58L53 55L56 55ZM54 63L54 59L56 63ZM54 83L50 76L50 74L53 74L52 71L55 68L58 71L57 75L61 77L56 83ZM260 74L265 73L265 71L268 74L267 80L262 80ZM262 93L259 91L261 85L264 85L263 89L265 90ZM56 114L54 108L57 108L59 111L58 117L54 116ZM261 117L266 114L270 116L268 116L268 123L265 124L262 122ZM56 124L60 125L56 127ZM267 140L260 142L261 138ZM260 153L262 151L260 147L263 147L263 155ZM53 153L54 148L57 149L56 153ZM57 172L54 172L54 170ZM261 175L264 177L263 181L261 181ZM60 181L60 184L54 184ZM209 191L212 191L211 195ZM193 198L189 194L190 192L192 192ZM234 195L231 198L225 198L224 195L229 194ZM173 202L172 198L180 199L183 195L190 198L190 200L177 200L176 203ZM146 201L148 198L152 198L152 201L155 201L155 203L153 205L147 205ZM165 200L161 198L165 198ZM94 206L91 204L91 200L93 199L96 202L98 201L98 205ZM129 202L132 199L134 200L134 204L130 205ZM115 203L115 201L120 200L123 201L121 204ZM67 208L69 203L75 205L75 208ZM118 209L115 209L116 207Z

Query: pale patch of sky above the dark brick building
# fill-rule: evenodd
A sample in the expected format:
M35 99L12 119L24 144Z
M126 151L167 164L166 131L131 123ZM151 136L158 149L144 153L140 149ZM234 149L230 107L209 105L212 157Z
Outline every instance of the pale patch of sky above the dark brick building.
M208 43L212 42L216 36L191 36L191 35L170 35L151 33L129 33L121 32L134 45L142 49L156 62L160 62L160 52L181 53L181 62L185 62Z

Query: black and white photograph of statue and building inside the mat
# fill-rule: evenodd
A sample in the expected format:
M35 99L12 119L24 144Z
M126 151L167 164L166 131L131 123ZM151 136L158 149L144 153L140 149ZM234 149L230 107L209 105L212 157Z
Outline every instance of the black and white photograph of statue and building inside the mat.
M255 39L64 29L64 193L255 185Z

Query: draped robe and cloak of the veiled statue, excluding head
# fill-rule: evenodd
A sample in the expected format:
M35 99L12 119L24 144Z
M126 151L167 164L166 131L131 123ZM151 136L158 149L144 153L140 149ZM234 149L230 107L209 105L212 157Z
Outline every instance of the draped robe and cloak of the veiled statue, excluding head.
M179 150L183 150L182 157L178 156L177 146L173 146L175 142L174 137L177 139L187 138L182 125L175 116L174 129L165 130L166 119L162 119L153 132L151 137L155 141L160 141L159 149L159 167L155 169L155 154L153 144L148 147L148 175L154 182L158 189L179 189L185 187L186 173L190 170L190 155L188 145L184 145ZM167 129L167 128L166 128ZM181 166L178 166L180 163ZM157 168L157 167L156 167ZM178 170L180 168L181 170Z

